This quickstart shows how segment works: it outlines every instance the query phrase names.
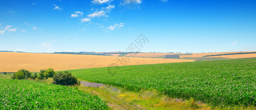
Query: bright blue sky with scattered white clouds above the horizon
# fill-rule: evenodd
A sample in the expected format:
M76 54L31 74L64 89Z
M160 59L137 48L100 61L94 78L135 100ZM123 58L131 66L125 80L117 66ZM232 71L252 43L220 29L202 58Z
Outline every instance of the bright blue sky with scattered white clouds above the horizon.
M1 0L0 50L256 51L255 0ZM136 43L135 43L136 44Z

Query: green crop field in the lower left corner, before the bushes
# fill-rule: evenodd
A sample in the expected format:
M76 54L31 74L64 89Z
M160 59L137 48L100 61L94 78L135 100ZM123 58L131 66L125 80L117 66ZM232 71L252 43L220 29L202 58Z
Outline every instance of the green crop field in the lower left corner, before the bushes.
M0 79L0 110L109 109L99 96L30 80Z

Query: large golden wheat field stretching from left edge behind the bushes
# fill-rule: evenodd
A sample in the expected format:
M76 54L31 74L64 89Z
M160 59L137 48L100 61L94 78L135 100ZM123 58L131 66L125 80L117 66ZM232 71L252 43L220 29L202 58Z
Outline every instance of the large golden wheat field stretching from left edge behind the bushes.
M129 58L126 65L143 65L156 63L193 62L184 59L160 59L160 58L131 58L101 55L72 55L72 54L37 54L0 52L0 72L17 72L19 69L27 69L31 72L39 72L40 69L53 68L56 71L85 69L95 67L107 67L111 63L122 66L120 60ZM125 63L124 63L125 64Z

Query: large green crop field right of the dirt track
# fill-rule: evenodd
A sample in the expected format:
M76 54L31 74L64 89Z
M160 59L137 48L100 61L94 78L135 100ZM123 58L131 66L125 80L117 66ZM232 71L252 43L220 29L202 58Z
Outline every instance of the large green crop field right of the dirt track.
M256 104L256 59L120 66L111 76L107 68L69 70L77 78L125 87L154 88L172 98L193 97L211 106Z

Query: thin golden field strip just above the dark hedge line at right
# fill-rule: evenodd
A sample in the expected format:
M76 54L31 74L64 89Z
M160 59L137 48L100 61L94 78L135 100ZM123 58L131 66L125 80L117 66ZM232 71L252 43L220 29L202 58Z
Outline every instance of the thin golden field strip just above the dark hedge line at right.
M180 55L180 58L185 58L185 57L203 57L206 55L218 55L218 54L233 54L233 53L243 53L243 52L216 52L216 53L202 53L202 54L192 54L192 55ZM240 54L242 55L242 54ZM207 57L206 57L207 58ZM216 57L209 57L209 58L216 58ZM220 57L220 58L226 58L226 57Z

